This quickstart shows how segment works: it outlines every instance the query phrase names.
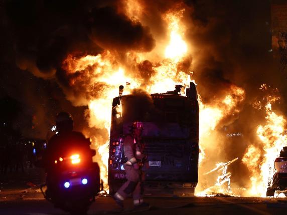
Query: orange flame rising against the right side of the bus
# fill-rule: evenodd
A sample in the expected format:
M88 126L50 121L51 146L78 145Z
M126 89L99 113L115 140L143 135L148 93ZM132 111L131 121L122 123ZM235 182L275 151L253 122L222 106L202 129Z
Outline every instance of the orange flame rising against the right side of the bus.
M200 140L200 150L199 154L199 183L196 190L196 195L206 196L210 192L225 193L230 191L223 188L222 184L218 184L217 180L214 179L214 184L206 186L204 184L206 181L206 168L210 168L211 154L214 153L214 150L222 147L220 139L216 137L216 127L219 122L226 117L230 117L236 113L239 113L238 107L245 99L245 91L243 88L237 87L236 85L230 85L229 90L225 92L219 99L214 99L212 105L204 104L199 96L199 140ZM215 135L215 137L214 137ZM205 163L204 161L209 162ZM220 160L221 158L217 158ZM218 161L216 165L219 165L221 162ZM211 165L215 165L212 163Z

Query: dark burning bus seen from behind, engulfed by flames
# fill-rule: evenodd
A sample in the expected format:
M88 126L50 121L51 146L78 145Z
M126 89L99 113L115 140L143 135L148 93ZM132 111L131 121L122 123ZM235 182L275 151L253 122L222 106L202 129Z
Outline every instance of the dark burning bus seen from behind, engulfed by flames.
M134 120L144 122L142 140L148 160L143 167L146 173L146 190L168 188L194 194L198 181L199 105L196 86L190 82L186 96L183 87L174 91L147 95L119 96L112 102L110 128L108 184L110 193L117 191L125 181L123 168L123 140ZM151 189L149 189L151 188ZM173 188L173 189L170 189ZM178 192L178 191L177 191Z

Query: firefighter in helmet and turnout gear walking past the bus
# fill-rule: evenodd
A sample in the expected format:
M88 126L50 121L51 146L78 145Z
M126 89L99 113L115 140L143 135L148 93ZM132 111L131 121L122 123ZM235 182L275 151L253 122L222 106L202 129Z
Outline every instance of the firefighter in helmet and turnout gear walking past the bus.
M123 164L127 181L113 195L114 200L121 208L123 208L123 200L131 193L135 208L149 206L142 199L144 173L141 167L147 159L144 154L144 144L141 141L143 129L144 124L142 122L133 122L131 134L127 135L123 142L124 155L127 158Z

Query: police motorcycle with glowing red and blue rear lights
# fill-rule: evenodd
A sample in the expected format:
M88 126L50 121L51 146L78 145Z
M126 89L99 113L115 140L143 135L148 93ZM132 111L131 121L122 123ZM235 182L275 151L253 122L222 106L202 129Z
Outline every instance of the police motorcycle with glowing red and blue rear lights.
M41 185L45 198L71 214L86 214L100 189L99 166L92 161L95 154L93 149L69 147L53 159L53 170Z

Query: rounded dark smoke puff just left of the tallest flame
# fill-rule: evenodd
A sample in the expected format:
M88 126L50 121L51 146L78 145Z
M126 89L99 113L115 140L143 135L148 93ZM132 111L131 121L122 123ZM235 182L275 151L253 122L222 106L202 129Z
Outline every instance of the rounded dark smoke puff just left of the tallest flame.
M108 50L148 52L155 40L148 27L132 22L113 7L94 8L91 12L90 31L95 43Z

